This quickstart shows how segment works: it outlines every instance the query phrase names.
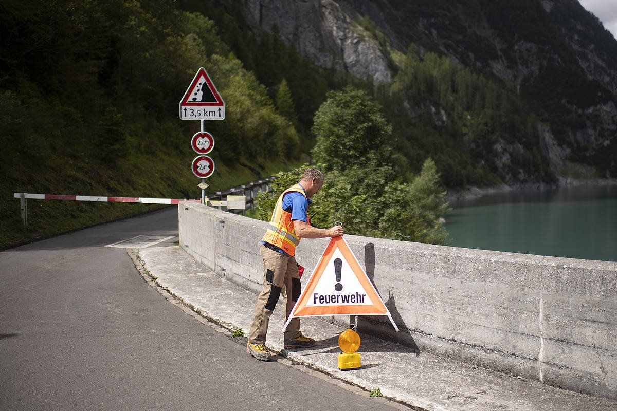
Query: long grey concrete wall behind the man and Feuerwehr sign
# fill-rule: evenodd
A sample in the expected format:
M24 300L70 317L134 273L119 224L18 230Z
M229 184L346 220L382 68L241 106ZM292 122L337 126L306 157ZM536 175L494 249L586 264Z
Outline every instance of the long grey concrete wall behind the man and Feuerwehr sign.
M179 205L180 245L257 293L266 223ZM617 262L471 250L346 235L401 331L360 333L560 388L617 399ZM302 240L307 281L328 240ZM349 317L329 317L350 324Z

